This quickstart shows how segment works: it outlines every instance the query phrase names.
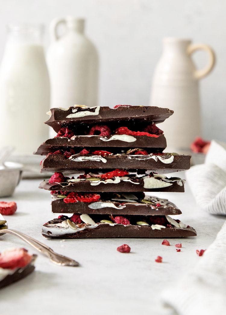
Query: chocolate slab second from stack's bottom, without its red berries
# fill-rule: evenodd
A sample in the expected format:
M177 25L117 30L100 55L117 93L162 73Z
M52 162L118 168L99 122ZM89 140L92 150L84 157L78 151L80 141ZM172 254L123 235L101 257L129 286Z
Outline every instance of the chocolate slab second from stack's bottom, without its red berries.
M156 204L161 204L161 206L156 206ZM54 198L52 200L52 213L179 215L181 211L167 199L158 197L145 196L143 199L130 200L123 198L123 196L122 198L114 198L114 196L112 198L102 198L101 196L101 199L98 201L90 203L79 201L65 203L64 198Z

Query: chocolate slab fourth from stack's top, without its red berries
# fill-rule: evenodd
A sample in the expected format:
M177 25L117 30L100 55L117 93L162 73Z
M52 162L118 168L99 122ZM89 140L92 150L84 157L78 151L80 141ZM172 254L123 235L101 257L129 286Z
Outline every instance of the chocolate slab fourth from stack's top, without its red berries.
M157 177L158 176L158 177ZM160 177L162 176L162 177ZM71 179L62 183L49 183L43 180L39 188L68 192L184 192L184 180L178 177L164 178L154 174L153 177L123 176L101 180Z

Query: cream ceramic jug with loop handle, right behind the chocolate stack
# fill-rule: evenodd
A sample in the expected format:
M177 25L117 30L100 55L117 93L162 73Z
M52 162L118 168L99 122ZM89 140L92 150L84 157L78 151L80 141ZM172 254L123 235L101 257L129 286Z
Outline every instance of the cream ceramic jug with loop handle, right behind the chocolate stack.
M208 64L202 70L197 70L191 59L191 54L198 49L209 54ZM214 61L214 52L206 44L172 37L163 39L163 54L155 68L150 105L174 111L162 125L166 152L187 153L190 143L201 136L199 79L212 70Z

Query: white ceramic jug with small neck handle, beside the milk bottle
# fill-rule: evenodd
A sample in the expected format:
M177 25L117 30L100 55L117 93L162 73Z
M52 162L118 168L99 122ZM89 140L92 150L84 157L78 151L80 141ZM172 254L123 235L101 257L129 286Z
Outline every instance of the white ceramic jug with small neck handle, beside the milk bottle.
M58 27L64 32L58 35ZM96 106L98 97L98 54L84 36L84 20L55 19L50 25L51 45L47 53L51 107L74 104Z

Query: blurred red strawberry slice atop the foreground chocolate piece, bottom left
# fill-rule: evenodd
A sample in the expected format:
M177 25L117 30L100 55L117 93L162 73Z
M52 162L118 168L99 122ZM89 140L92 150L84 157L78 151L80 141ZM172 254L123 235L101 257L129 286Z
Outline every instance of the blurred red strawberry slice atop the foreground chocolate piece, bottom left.
M30 262L31 255L24 248L8 249L0 254L0 268L3 269L23 268Z

